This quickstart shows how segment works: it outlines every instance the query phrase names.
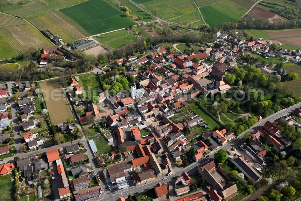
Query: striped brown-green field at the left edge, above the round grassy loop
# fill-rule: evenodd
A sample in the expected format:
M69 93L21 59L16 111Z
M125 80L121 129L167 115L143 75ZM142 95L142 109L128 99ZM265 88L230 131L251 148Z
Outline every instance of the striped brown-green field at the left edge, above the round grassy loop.
M0 35L18 54L31 48L42 49L53 45L30 24L1 28Z

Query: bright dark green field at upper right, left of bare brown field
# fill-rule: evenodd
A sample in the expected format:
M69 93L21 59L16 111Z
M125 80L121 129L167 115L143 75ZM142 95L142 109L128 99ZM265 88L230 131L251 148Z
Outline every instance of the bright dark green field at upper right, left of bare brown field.
M239 17L235 11L230 13L225 12L225 9L227 8L223 7L220 3L200 7L203 18L210 27L215 27L218 24L222 24L226 20L234 21Z

